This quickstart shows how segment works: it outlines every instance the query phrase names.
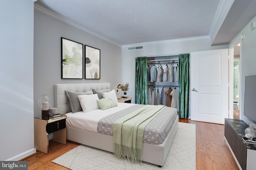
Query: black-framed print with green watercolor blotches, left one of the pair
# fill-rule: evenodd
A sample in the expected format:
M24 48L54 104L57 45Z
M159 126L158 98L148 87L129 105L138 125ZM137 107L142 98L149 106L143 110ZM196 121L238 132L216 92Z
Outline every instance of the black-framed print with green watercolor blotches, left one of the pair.
M84 46L61 37L61 78L84 78Z

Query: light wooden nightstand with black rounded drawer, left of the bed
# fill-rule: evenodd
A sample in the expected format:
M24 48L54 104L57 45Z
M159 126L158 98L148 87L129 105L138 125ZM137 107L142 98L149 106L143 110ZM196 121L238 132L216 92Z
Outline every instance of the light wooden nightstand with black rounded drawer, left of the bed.
M43 120L34 117L34 147L48 154L48 134L53 133L53 141L66 143L66 115L60 119Z

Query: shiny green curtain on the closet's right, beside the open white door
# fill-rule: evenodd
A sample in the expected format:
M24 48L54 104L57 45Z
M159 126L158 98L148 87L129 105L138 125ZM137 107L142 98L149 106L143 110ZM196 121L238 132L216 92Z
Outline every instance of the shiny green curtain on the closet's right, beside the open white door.
M187 119L189 110L189 54L179 55L179 117Z

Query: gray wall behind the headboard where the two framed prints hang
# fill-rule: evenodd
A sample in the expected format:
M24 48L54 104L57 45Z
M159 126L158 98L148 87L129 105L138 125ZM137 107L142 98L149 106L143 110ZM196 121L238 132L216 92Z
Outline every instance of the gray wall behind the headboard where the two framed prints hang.
M61 79L61 44L64 37L100 49L100 80ZM76 27L34 11L34 116L41 117L38 98L47 94L54 107L54 84L121 82L121 47Z

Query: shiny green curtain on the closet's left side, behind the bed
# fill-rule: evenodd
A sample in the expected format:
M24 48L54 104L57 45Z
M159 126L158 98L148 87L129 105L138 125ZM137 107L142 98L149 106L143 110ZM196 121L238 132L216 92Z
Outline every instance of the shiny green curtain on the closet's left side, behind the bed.
M136 58L136 104L147 104L147 57Z

